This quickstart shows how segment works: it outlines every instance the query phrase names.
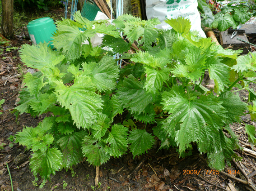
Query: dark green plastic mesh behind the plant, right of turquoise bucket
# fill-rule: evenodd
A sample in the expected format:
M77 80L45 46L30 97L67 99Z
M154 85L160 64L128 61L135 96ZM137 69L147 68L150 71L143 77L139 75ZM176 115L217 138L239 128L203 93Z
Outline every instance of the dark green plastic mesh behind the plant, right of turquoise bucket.
M84 3L81 15L90 21L94 21L98 11L100 11L100 9L96 4L86 1Z

